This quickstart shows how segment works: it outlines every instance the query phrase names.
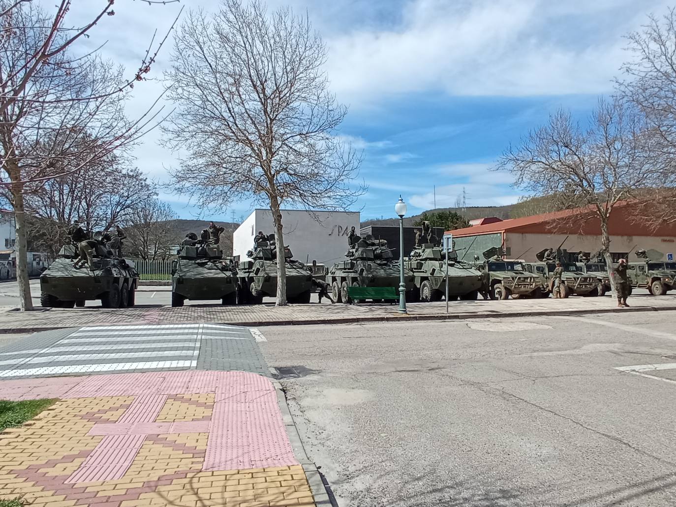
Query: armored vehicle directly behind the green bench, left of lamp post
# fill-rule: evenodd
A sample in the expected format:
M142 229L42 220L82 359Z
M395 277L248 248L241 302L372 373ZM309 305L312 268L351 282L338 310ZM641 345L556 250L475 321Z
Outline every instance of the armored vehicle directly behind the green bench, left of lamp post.
M327 283L331 285L333 299L349 303L347 287L393 287L399 288L400 264L392 256L384 239L375 239L371 235L364 238L355 236L349 239L349 249L345 260L337 262L327 274ZM404 268L406 299L416 301L418 288L413 273ZM374 299L374 302L381 302Z

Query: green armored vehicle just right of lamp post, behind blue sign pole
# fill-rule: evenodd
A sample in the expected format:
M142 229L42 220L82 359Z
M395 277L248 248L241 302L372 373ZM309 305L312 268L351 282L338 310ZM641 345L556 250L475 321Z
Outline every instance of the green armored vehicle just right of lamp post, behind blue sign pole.
M446 290L445 252L432 243L424 243L411 251L404 266L414 276L420 301L440 301ZM481 272L471 264L460 262L455 252L448 260L448 299L477 299L481 289Z

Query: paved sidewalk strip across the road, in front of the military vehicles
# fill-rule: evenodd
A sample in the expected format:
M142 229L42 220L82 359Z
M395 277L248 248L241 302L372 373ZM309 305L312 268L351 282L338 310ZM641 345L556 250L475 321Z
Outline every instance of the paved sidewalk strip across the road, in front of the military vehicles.
M315 324L389 320L406 318L477 318L537 314L627 312L635 310L676 310L676 295L634 295L632 308L617 308L611 297L569 297L567 299L508 299L506 301L452 301L450 313L445 303L408 305L408 315L397 306L385 304L300 304L276 307L256 306L184 306L110 310L104 308L52 308L37 312L0 311L0 329L40 331L83 325L220 323L240 325Z

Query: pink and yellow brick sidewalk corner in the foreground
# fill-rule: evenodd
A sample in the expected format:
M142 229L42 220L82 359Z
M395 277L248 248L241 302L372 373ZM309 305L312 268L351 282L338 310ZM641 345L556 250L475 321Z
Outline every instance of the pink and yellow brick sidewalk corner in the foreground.
M247 372L0 382L0 399L58 397L0 433L0 498L32 507L314 506L276 391Z

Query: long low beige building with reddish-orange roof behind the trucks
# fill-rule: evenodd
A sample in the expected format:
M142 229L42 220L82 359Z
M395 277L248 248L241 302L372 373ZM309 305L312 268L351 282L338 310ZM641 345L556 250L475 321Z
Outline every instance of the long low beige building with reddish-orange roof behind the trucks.
M608 232L613 259L629 254L631 261L636 259L634 252L637 249L655 249L665 254L664 260L676 260L676 224L650 228L635 220L632 212L631 203L620 203L610 215ZM600 232L600 221L583 209L512 218L448 231L453 235L458 257L464 260L471 260L475 255L483 260L483 251L490 247L503 247L506 258L527 262L535 261L539 251L556 249L561 243L561 248L568 251L594 253L601 247Z

